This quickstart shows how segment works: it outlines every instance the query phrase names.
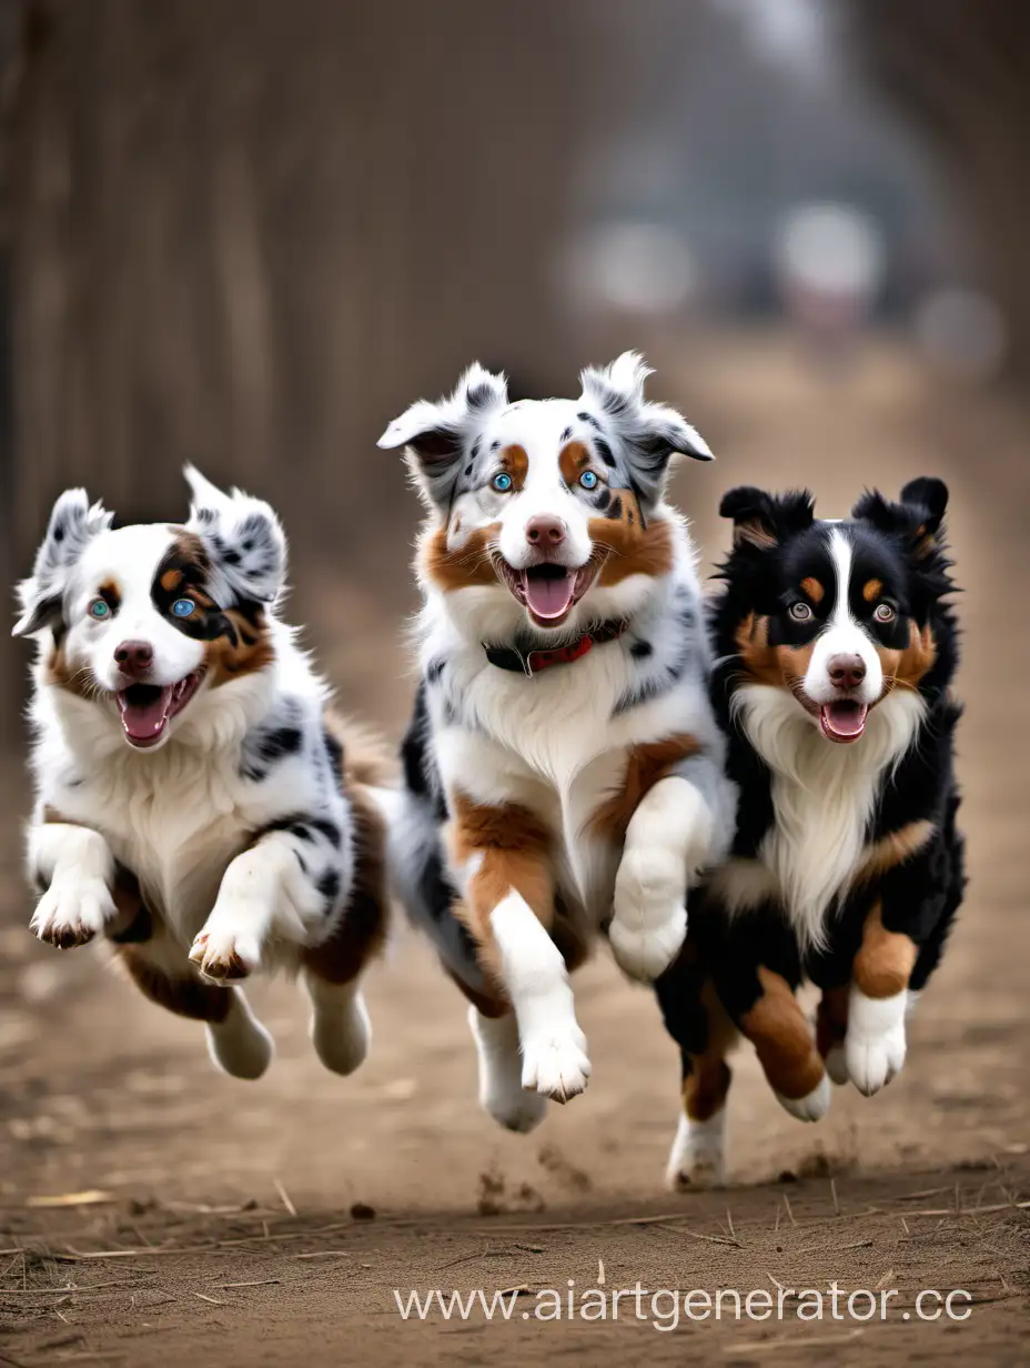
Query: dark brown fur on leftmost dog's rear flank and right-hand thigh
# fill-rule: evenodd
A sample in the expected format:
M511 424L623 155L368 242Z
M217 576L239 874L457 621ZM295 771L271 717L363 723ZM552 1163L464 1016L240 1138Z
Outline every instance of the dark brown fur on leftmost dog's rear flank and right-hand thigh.
M354 821L354 880L339 925L321 945L301 953L305 969L327 984L349 984L386 944L386 828L364 788L350 789Z

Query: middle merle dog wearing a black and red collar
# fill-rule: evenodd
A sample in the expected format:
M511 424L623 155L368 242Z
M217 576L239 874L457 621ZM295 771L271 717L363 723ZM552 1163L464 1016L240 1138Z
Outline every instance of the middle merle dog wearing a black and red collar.
M710 451L647 375L626 353L579 399L509 404L473 365L379 443L406 449L427 509L391 865L513 1130L587 1086L568 970L598 929L652 981L732 832L695 553L663 498L672 456Z

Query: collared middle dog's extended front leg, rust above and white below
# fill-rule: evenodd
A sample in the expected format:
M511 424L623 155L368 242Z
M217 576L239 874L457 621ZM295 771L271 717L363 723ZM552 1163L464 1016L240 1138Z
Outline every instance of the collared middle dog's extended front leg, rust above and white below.
M550 833L514 803L486 806L458 793L453 810L450 851L465 886L464 917L481 960L514 1008L521 1085L565 1103L587 1086L590 1060L565 960L549 934L554 919ZM481 1034L477 1029L477 1038ZM498 1099L491 1111L505 1124L513 1124L509 1100L501 1093L514 1045L513 1034L495 1027L490 1049L480 1048L480 1064L491 1073L480 1081L481 1092ZM514 1129L529 1129L533 1119L517 1118Z

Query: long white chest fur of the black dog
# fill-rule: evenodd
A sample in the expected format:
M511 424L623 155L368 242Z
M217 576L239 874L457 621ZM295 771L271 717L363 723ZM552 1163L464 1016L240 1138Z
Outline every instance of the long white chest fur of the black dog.
M826 914L855 877L885 770L912 746L926 705L895 689L873 709L860 741L828 741L785 689L748 684L737 689L735 711L773 773L776 822L761 848L803 944L826 943ZM733 910L756 906L767 885L752 862L732 860L719 889ZM741 867L748 866L748 867Z

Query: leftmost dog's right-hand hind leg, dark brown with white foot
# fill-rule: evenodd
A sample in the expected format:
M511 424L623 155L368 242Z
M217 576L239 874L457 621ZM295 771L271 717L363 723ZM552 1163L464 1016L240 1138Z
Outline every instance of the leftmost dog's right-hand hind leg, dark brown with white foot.
M382 949L387 928L386 833L367 792L350 791L354 819L354 881L343 917L327 941L301 952L312 1004L315 1053L334 1074L353 1074L372 1044L361 974Z

